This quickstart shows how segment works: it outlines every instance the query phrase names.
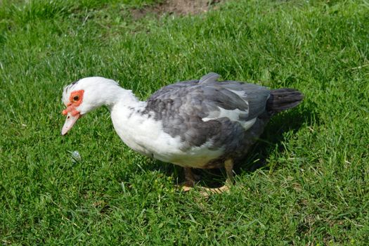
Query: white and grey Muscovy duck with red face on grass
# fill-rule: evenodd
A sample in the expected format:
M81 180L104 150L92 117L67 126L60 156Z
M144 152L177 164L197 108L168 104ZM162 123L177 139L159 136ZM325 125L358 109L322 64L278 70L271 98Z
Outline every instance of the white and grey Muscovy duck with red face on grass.
M183 190L195 186L193 169L224 168L226 182L207 193L222 193L234 183L233 167L257 142L273 115L294 108L304 95L297 89L200 79L162 87L146 101L112 79L86 77L63 89L66 116L61 134L86 113L105 105L119 138L147 157L184 168Z

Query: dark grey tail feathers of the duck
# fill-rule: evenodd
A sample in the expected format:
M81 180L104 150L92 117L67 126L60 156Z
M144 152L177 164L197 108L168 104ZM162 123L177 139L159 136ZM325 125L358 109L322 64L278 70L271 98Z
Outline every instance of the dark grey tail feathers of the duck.
M304 94L290 88L271 90L271 96L266 102L266 110L274 115L283 110L294 108L301 103Z

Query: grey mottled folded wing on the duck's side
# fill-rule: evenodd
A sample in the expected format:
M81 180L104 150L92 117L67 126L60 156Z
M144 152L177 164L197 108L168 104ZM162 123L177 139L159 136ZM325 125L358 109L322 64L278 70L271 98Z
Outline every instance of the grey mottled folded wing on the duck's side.
M265 112L268 89L235 81L217 82L210 73L198 80L165 86L148 98L145 112L161 120L165 132L186 146L231 144ZM237 145L237 143L232 143Z

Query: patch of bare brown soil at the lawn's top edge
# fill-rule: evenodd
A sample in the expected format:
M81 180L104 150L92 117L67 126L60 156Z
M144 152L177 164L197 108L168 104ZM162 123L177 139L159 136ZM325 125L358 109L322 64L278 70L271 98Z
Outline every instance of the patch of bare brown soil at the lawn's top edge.
M222 0L165 0L162 4L150 6L142 9L134 9L131 11L135 19L143 18L148 13L155 15L195 15L207 12L210 8L214 8Z

